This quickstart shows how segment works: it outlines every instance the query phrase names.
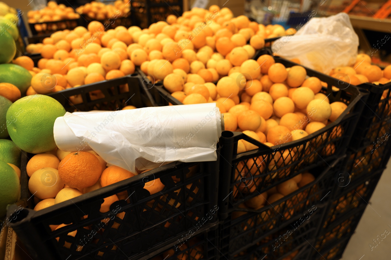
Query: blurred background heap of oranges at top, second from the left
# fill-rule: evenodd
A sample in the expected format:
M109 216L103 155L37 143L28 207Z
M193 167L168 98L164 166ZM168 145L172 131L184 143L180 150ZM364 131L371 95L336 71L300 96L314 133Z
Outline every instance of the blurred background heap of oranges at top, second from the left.
M104 20L108 18L123 17L130 11L130 2L116 0L114 5L91 1L76 8L79 14L86 14L91 19Z

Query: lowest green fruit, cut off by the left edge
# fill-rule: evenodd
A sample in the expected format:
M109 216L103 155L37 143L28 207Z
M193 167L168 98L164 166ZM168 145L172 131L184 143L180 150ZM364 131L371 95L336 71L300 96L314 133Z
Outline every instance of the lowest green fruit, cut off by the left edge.
M0 161L0 217L5 215L7 205L15 203L20 195L20 181L14 168Z

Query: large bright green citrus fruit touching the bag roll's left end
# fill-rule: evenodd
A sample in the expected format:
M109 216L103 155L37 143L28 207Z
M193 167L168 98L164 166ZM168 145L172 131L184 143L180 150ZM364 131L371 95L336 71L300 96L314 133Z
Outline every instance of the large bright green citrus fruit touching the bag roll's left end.
M22 97L7 111L9 136L22 150L32 154L48 152L56 148L53 136L54 121L65 115L64 107L46 95ZM11 117L17 118L12 122Z

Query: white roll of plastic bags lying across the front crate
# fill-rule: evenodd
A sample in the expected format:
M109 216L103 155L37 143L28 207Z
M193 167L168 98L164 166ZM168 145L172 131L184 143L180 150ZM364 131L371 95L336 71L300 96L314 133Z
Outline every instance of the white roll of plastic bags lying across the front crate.
M172 161L215 161L222 120L215 103L66 113L54 123L59 149L94 150L131 172Z

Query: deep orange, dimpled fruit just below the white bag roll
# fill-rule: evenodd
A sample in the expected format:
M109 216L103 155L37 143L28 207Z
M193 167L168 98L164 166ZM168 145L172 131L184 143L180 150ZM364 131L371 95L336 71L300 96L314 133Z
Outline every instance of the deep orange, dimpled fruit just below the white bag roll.
M89 152L72 152L60 162L58 174L69 187L77 189L95 184L102 172L99 159Z

